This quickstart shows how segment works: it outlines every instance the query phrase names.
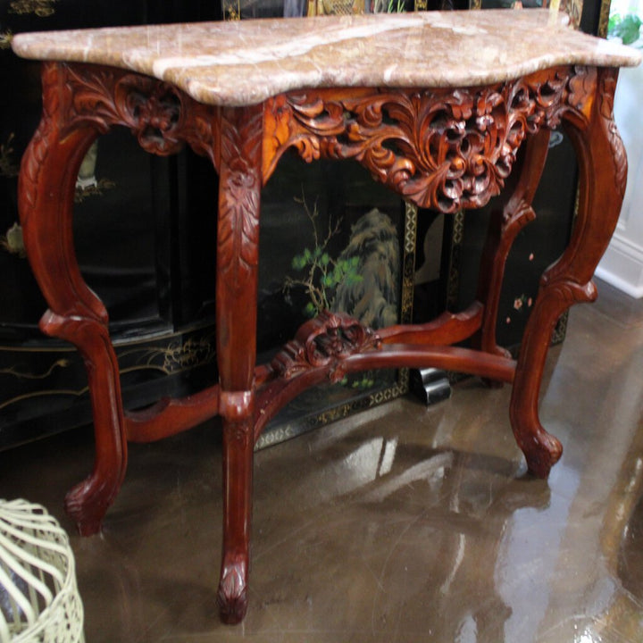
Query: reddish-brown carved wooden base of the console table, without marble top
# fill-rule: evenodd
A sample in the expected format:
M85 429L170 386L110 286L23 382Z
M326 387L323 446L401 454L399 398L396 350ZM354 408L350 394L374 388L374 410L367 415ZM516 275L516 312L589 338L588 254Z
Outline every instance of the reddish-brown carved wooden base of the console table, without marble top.
M45 63L44 112L24 156L20 207L29 261L49 305L42 329L79 347L94 404L96 463L67 509L84 534L100 529L121 486L127 440L188 429L215 414L223 423L223 552L219 603L226 622L247 605L253 447L266 423L298 393L347 372L438 366L513 382L511 422L530 471L547 476L561 455L539 422L538 398L555 321L596 295L591 276L614 230L626 160L614 126L617 71L560 66L478 88L325 88L274 96L253 107L198 104L179 89L129 71ZM505 259L522 226L547 154L564 122L580 159L580 212L572 241L542 279L517 361L496 345ZM187 143L219 171L217 352L220 381L184 400L123 414L107 313L82 280L71 233L79 164L99 133L132 130L154 154ZM444 213L500 193L523 142L519 180L492 221L478 301L462 313L379 333L346 315L308 321L270 364L257 366L256 294L260 196L280 156L363 163L406 199ZM614 194L614 185L616 186ZM477 337L477 349L454 347Z

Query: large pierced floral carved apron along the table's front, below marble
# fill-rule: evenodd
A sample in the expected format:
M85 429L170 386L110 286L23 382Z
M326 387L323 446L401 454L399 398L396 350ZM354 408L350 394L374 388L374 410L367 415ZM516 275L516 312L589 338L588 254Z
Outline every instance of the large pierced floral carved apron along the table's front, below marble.
M579 111L567 100L575 74L561 67L480 88L278 97L269 107L273 150L279 157L295 146L307 161L355 159L408 200L441 212L480 207L504 186L528 134Z

